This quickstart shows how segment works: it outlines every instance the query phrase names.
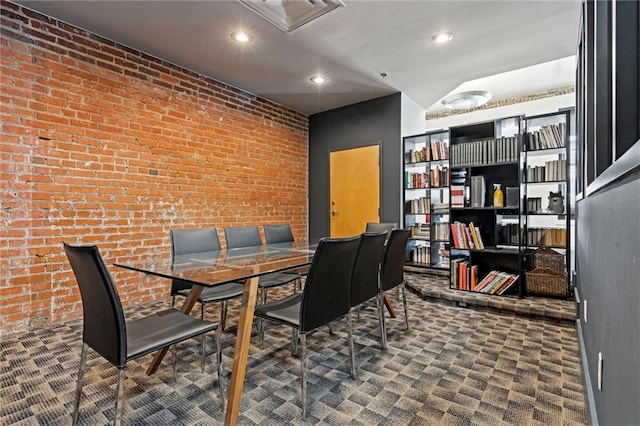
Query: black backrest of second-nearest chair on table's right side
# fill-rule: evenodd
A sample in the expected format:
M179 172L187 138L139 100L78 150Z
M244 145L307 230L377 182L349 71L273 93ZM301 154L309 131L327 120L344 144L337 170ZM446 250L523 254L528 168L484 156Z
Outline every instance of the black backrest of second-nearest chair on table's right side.
M386 239L386 232L365 232L360 236L360 244L351 276L349 300L352 307L358 306L378 294L380 261Z

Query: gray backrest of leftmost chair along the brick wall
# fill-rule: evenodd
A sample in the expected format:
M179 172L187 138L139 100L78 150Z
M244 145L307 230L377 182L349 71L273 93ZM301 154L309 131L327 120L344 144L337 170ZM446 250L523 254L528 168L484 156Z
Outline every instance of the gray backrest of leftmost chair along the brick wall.
M172 229L171 230L171 255L182 256L185 254L204 253L220 250L220 239L216 228L197 229ZM174 296L180 290L191 288L191 283L171 280L171 295Z

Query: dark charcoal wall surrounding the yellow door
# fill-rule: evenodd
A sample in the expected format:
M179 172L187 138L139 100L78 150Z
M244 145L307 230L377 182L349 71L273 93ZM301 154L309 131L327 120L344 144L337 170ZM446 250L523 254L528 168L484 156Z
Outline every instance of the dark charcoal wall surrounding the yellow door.
M400 223L401 94L309 117L309 236L329 235L329 152L380 143L380 221ZM364 231L364 229L363 229Z

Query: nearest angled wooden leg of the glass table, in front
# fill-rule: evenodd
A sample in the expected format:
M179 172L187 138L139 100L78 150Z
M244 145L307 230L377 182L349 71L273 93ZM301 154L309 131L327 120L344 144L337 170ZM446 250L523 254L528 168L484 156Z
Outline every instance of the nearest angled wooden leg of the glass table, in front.
M247 357L251 343L253 312L256 308L257 298L258 277L249 278L245 281L242 292L242 305L240 306L240 317L238 318L236 347L233 352L233 369L231 370L231 382L229 383L227 412L225 413L224 419L225 425L235 426L238 424L242 387L244 386L244 375L247 370Z

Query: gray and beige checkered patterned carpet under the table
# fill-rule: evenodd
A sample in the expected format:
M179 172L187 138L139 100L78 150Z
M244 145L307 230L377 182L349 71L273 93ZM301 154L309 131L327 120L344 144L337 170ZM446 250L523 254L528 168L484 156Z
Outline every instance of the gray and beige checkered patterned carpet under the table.
M423 278L409 277L414 283ZM282 291L290 291L288 288ZM270 297L277 297L277 291ZM379 348L374 304L356 326L358 377L349 376L344 322L335 334L307 339L308 424L321 425L584 425L586 411L576 330L567 323L447 306L407 292L411 329L401 305L387 322L389 348ZM166 304L127 310L136 317ZM211 318L217 313L210 308ZM230 325L237 306L229 310ZM3 336L0 424L70 424L80 358L81 322ZM239 424L305 424L300 410L299 361L290 330L268 325L264 348L254 338ZM223 334L228 384L234 332ZM200 372L198 341L178 348L174 383L170 358L145 375L151 357L130 363L125 383L127 425L217 425L224 411L217 393L213 340L208 370ZM89 352L80 423L113 420L116 370Z

